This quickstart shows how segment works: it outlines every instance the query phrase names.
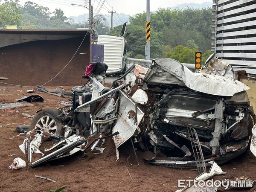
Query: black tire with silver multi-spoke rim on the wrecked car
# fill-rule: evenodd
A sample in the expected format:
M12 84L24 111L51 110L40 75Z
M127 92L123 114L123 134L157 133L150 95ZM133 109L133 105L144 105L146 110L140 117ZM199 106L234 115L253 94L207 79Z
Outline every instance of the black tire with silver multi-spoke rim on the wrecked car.
M54 133L59 136L64 136L64 128L54 116L61 114L57 109L47 109L36 113L29 126L29 131L38 128L49 133ZM48 120L47 120L48 119Z

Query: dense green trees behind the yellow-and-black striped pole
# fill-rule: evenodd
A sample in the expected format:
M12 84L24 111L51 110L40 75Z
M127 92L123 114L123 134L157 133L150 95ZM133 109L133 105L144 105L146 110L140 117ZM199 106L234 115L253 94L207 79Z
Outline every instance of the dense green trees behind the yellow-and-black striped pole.
M151 58L161 57L182 45L205 52L211 47L212 9L163 9L150 13ZM129 17L127 50L131 57L145 55L146 13ZM121 26L110 30L109 35L119 36ZM186 53L184 53L186 58ZM193 53L194 54L194 53ZM192 56L194 59L194 56ZM192 61L192 60L191 60ZM192 62L194 63L194 62Z

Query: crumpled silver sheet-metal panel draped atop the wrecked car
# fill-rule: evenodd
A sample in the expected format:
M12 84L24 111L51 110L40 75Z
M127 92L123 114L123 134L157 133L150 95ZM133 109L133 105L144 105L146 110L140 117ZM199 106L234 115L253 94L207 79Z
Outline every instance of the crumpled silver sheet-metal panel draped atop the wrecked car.
M192 90L218 96L233 96L235 93L250 89L237 80L193 73L179 61L170 58L154 59L143 82L148 84L178 84Z

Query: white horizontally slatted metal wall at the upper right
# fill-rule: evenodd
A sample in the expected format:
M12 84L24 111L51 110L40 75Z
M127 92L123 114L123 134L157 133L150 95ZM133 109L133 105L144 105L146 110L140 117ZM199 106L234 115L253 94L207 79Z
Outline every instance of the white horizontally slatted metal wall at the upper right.
M256 74L256 0L213 0L212 8L212 52Z

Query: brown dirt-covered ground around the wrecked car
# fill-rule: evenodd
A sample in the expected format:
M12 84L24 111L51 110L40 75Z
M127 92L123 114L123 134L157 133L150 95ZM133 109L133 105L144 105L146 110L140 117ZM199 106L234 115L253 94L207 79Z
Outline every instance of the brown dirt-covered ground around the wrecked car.
M54 89L58 86L47 86ZM70 90L73 86L63 87ZM35 87L3 87L0 85L0 103L15 102L21 96L28 96L26 90ZM178 179L194 179L198 172L196 169L172 169L166 166L150 165L143 160L143 154L138 151L140 165L134 157L130 143L125 143L119 148L120 159L116 161L116 151L113 140L107 138L105 142L105 151L103 154L91 154L81 159L73 157L67 160L58 160L55 163L47 163L36 168L24 168L20 170L9 170L8 166L15 157L10 154L16 154L16 157L24 159L24 154L20 151L18 145L23 142L23 135L17 136L15 131L17 125L29 125L31 119L22 116L22 113L34 114L44 108L58 108L60 101L67 99L40 93L44 97L44 102L33 103L34 106L23 106L16 108L19 112L5 113L0 110L0 191L49 191L67 186L65 189L69 192L77 191L175 191ZM16 110L15 109L15 110ZM12 138L10 140L6 140ZM89 150L90 151L90 150ZM128 158L129 157L129 158ZM127 160L128 159L128 160ZM256 158L246 152L239 157L231 160L221 168L226 175L214 176L213 179L247 178L247 180L256 180ZM131 165L132 164L132 165ZM132 179L126 169L128 168ZM234 169L235 168L235 169ZM208 168L209 169L209 168ZM41 175L56 180L57 183L49 182L36 178L35 175ZM237 190L233 190L237 191ZM248 189L239 190L247 192Z

